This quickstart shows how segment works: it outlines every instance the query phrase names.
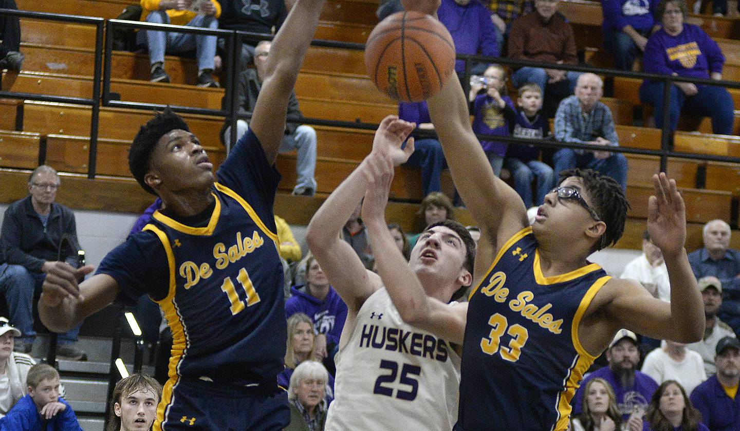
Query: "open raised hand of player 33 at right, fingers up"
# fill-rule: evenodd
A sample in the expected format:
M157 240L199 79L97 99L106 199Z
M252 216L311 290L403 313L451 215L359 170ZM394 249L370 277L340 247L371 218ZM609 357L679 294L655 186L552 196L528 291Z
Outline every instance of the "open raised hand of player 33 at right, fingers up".
M686 206L676 180L664 172L653 175L655 195L647 201L647 231L664 255L678 254L686 241Z

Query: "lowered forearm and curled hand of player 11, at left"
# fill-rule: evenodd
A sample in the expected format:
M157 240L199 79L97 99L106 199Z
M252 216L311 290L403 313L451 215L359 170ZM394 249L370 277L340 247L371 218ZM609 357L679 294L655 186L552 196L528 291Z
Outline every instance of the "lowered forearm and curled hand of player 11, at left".
M119 288L111 276L98 274L78 285L77 280L90 271L92 266L77 269L67 262L54 262L38 301L38 316L47 328L65 332L113 302Z

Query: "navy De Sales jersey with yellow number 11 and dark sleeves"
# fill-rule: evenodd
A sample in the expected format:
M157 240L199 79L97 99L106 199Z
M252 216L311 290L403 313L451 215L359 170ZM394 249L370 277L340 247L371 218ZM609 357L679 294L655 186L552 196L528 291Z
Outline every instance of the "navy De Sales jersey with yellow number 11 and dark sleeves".
M283 370L283 267L272 204L280 174L249 130L217 172L203 227L159 211L101 262L125 299L154 297L172 329L169 377L275 386ZM163 396L165 401L167 393Z

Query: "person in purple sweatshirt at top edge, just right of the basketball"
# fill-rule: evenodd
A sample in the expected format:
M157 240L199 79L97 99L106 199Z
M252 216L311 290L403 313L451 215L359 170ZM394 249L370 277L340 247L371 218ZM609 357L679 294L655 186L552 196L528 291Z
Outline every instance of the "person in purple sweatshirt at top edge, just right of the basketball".
M491 21L491 10L480 0L442 0L437 17L452 35L457 54L501 55L501 42ZM472 66L471 72L478 75L486 67L485 64ZM465 61L455 62L455 72L461 77L465 74Z

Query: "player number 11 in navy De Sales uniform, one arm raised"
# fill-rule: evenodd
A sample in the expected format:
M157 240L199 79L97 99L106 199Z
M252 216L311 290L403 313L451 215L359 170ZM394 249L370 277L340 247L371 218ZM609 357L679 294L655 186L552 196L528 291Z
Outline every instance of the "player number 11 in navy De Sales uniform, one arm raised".
M297 0L272 44L249 132L216 172L198 138L166 110L141 128L129 168L161 210L115 248L98 273L57 262L38 303L63 331L116 296L147 293L172 329L169 381L155 431L282 430L286 318L273 203L289 95L323 0ZM215 182L214 182L215 180Z

